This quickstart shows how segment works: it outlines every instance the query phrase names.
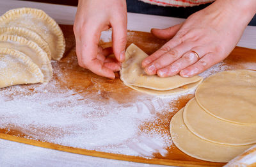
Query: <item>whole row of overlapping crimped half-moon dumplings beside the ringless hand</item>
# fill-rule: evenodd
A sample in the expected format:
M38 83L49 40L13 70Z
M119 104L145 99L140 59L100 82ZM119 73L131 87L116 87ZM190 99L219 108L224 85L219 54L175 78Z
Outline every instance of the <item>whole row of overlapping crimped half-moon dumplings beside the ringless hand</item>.
M0 71L4 71L0 77L0 88L15 84L48 83L52 78L51 59L62 58L65 39L60 26L42 10L17 8L0 17L0 48L1 61L3 60ZM15 68L6 67L13 67L15 64ZM21 71L21 67L26 68ZM28 74L25 75L24 72ZM35 74L31 75L31 72Z

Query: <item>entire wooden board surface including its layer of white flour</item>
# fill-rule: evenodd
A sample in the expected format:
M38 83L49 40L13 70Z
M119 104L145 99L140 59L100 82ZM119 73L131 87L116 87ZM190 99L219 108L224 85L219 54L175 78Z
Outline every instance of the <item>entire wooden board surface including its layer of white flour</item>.
M49 84L0 90L0 138L77 154L177 166L223 166L200 161L172 143L169 123L193 93L157 97L106 79L77 65L72 26L61 26L67 47L52 61ZM109 45L105 34L101 44ZM147 54L165 41L148 33L129 32L128 45ZM232 69L256 70L256 51L237 47L228 58L200 76ZM116 73L118 76L118 73Z

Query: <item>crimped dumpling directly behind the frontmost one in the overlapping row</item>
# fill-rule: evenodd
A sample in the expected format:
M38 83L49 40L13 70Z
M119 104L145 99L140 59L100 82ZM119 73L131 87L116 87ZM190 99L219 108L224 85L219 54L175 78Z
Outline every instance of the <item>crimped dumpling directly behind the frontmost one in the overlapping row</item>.
M44 74L44 83L48 83L52 78L52 66L46 52L40 48L35 42L28 41L26 38L15 35L1 35L0 47L15 49L23 52L38 65Z

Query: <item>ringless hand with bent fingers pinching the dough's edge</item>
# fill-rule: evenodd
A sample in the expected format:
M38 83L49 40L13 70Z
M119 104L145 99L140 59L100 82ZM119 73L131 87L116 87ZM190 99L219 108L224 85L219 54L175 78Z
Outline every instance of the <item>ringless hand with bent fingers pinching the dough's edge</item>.
M101 31L112 28L113 51L98 46ZM125 0L80 0L74 22L76 54L81 67L115 78L125 60L127 11ZM111 53L115 59L108 58Z

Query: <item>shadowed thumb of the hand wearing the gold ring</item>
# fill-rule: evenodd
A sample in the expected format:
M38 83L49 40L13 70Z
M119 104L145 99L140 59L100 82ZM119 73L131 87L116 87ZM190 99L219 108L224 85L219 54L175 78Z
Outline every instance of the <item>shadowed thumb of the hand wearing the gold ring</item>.
M152 28L151 33L154 36L156 36L157 38L166 40L166 39L170 39L173 36L175 36L175 34L179 31L181 26L182 26L182 24L177 24L175 26L172 26L172 27L166 28L166 29Z

